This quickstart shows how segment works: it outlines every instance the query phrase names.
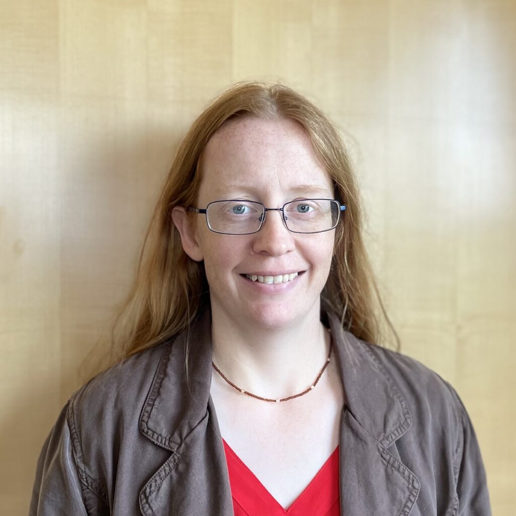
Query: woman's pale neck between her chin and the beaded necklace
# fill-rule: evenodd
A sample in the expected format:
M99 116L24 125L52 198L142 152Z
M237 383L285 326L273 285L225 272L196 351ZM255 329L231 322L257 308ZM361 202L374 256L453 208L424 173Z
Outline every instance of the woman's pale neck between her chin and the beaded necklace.
M212 308L215 365L240 389L257 396L276 399L304 391L324 366L330 348L329 333L315 308L302 320L275 329L246 321L236 324Z

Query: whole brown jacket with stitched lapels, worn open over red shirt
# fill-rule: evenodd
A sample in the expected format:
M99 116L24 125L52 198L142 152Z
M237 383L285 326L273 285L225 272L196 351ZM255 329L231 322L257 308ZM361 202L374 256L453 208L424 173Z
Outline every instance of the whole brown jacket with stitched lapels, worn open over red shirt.
M488 516L486 474L455 390L414 359L358 340L329 314L345 392L345 516ZM74 393L43 445L31 516L232 516L209 386L211 319Z

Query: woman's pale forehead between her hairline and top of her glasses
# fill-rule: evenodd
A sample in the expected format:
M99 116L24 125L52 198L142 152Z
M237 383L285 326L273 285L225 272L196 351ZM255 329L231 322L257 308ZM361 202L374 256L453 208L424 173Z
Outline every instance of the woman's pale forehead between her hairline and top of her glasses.
M217 198L257 191L332 195L332 181L308 134L290 119L232 120L208 141L199 195ZM209 200L213 200L209 199Z

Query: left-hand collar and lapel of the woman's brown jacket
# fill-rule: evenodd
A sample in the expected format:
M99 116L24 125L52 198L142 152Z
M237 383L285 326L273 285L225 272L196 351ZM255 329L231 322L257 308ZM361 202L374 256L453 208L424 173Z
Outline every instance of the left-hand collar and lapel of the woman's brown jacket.
M188 383L186 382L186 342ZM233 514L227 463L213 402L209 311L163 354L140 416L140 431L171 451L140 491L145 516Z

